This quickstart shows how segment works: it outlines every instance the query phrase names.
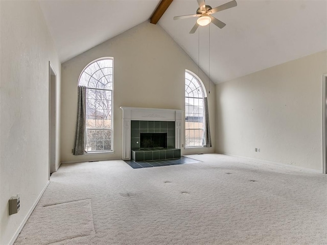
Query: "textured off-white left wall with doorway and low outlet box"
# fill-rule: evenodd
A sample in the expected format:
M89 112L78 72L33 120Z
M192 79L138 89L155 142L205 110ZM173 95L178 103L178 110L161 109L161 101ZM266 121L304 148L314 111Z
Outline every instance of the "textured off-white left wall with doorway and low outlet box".
M0 9L0 244L8 244L49 180L49 61L57 89L61 66L38 2L0 1ZM20 211L9 216L17 193Z

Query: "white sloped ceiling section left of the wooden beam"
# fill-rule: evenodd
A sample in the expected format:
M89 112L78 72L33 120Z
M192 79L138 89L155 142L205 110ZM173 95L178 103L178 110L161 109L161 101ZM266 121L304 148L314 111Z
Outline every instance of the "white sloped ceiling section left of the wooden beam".
M160 0L39 0L39 3L60 61L65 62L146 21Z

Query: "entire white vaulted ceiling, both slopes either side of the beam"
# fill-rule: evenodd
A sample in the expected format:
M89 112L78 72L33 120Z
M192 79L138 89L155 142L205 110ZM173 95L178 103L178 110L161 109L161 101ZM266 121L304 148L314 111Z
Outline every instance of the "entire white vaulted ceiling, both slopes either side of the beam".
M64 62L146 21L159 2L48 0L40 1L40 6ZM214 8L227 2L205 3ZM226 23L223 29L210 24L189 34L196 18L173 20L177 15L194 14L198 8L196 0L174 0L158 24L200 63L215 83L327 49L326 0L237 0L237 3L235 8L213 14ZM120 18L121 13L124 18Z

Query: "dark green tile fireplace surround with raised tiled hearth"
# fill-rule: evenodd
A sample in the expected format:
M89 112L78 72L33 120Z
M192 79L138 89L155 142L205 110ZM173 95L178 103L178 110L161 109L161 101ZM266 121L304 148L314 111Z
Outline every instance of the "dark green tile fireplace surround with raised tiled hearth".
M141 133L167 134L167 147L141 148ZM175 147L175 121L131 120L131 159L151 161L180 158L180 149Z

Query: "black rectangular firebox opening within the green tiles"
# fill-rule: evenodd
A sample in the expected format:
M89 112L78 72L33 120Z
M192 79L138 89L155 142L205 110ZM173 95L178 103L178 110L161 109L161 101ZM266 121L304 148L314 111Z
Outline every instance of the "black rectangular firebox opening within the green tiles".
M167 133L141 133L140 148L167 148Z

